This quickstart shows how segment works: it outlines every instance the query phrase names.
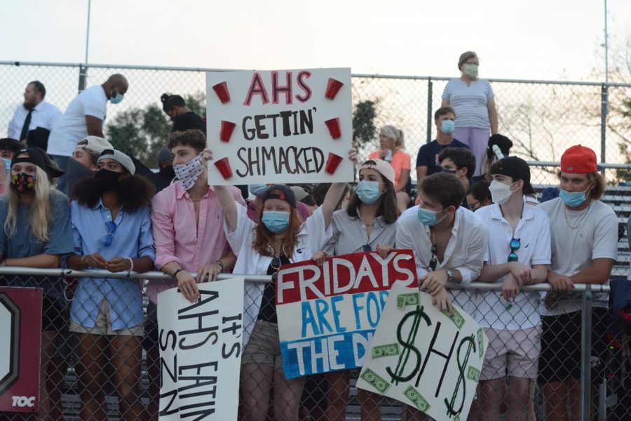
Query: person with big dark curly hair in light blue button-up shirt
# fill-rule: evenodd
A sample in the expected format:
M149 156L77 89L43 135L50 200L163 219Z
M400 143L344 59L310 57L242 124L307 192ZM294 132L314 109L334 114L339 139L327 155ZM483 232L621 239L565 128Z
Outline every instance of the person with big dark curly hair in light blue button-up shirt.
M106 149L94 178L81 180L70 208L72 269L147 272L156 251L149 199L154 187L134 175L129 156ZM79 338L81 420L107 419L103 392L105 349L114 367L122 420L144 420L140 401L140 359L144 314L142 291L132 279L81 278L70 309L70 330Z

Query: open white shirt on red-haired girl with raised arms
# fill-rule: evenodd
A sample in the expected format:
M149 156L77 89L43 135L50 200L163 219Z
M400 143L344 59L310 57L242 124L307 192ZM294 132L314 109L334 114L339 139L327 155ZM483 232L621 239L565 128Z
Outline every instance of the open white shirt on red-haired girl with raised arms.
M237 206L237 226L232 231L224 220L224 232L226 239L237 256L236 264L232 269L233 274L267 274L267 268L271 264L272 258L260 255L252 247L255 239L255 228L257 224L247 217L247 209L240 203ZM318 250L322 250L333 235L331 225L325 227L322 208L318 208L309 218L305 220L296 236L294 253L290 257L290 262L302 262L309 260ZM247 345L252 335L255 321L259 316L259 309L263 300L263 290L265 284L261 282L245 282L245 292L243 297L243 346Z

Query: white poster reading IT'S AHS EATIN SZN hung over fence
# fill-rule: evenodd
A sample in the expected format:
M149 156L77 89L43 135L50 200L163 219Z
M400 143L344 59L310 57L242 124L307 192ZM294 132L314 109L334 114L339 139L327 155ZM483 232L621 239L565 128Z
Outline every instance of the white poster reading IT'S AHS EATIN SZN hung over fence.
M243 278L158 294L160 421L236 420L243 352Z

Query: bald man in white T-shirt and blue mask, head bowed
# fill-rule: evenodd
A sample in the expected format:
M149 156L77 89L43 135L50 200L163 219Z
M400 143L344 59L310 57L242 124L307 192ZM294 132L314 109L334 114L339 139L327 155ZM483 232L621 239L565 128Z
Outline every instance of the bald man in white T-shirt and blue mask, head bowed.
M79 140L88 135L105 137L103 121L107 112L107 101L118 104L128 88L129 83L125 76L112 74L102 85L86 89L70 102L60 122L50 133L46 151L62 170L66 170L68 159ZM67 193L65 175L57 182L57 189Z

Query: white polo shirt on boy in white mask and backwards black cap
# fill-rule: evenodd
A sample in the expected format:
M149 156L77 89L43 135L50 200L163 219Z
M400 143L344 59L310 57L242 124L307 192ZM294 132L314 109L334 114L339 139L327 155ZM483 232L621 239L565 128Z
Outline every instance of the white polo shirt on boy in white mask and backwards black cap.
M508 261L510 240L520 239L521 246L515 251L523 265L550 265L550 220L548 215L524 201L522 219L517 224L515 235L510 224L502 215L498 204L476 210L489 229L489 241L484 261L488 265L501 265ZM502 283L504 276L497 279ZM522 330L541 324L538 313L539 293L520 292L513 298L512 305L501 297L501 291L478 293L480 298L473 318L485 328ZM508 307L508 308L507 308Z

